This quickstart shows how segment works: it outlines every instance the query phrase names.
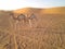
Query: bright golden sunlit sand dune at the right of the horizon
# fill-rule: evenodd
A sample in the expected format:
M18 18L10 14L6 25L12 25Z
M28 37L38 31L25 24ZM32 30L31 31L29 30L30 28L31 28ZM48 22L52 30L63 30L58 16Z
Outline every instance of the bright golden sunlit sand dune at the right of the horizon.
M65 14L65 8L52 8L52 9L46 9L43 10L47 14ZM42 13L42 12L41 12Z

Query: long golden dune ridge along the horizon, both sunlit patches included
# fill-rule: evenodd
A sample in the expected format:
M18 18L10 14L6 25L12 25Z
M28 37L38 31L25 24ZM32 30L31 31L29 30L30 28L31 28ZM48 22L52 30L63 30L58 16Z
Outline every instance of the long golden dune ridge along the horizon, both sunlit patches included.
M65 14L65 7L51 9L25 8L13 11L14 13L42 13L42 14Z

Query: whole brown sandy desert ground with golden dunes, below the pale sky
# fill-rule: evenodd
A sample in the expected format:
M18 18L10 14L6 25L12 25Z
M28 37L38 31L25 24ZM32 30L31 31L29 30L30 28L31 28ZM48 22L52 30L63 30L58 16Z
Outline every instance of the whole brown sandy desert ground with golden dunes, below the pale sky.
M65 49L65 7L1 10L0 49Z

